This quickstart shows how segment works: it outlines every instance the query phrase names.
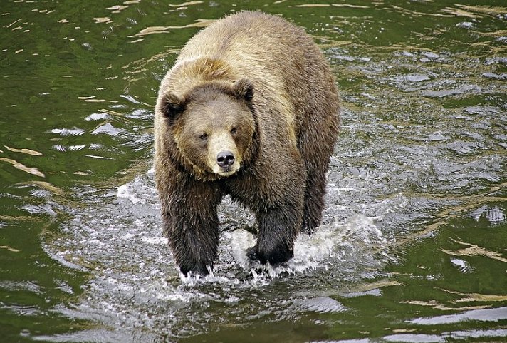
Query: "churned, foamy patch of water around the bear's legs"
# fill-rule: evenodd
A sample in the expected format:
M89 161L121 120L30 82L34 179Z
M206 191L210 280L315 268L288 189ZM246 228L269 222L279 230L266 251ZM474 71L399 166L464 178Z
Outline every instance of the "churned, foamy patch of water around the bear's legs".
M63 228L63 235L45 244L48 254L63 265L92 275L83 285L83 296L58 312L133 332L139 327L157 332L163 328L169 335L183 328L202 332L204 324L228 316L231 306L241 318L265 313L281 319L295 306L303 311L342 311L345 308L326 295L305 293L315 292L322 280L337 275L357 282L390 259L379 225L382 217L358 214L346 220L328 218L315 234L299 235L293 259L281 267L252 266L246 249L256 237L244 227L251 227L254 217L226 199L219 209L224 231L214 273L185 278L162 237L152 172L121 185L115 197L104 203L71 210L73 220ZM298 295L287 300L283 290L266 293L265 287L280 283L298 284ZM245 307L245 303L255 305ZM204 315L204 307L218 307L213 318ZM165 315L160 317L162 312ZM191 313L199 317L192 323L185 319Z

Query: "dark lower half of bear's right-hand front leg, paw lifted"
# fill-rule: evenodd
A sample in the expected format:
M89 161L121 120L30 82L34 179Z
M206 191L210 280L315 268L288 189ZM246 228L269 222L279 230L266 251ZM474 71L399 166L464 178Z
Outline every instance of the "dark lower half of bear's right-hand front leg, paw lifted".
M257 213L258 238L255 257L263 265L276 266L294 255L294 240L301 225L301 211L296 208L278 208Z

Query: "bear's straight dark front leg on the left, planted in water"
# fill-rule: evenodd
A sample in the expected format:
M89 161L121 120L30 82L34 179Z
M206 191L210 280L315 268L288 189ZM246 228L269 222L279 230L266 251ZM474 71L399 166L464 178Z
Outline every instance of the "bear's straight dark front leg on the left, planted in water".
M213 268L219 245L216 214L221 195L202 183L184 183L171 194L162 209L164 235L169 240L179 270L207 275Z

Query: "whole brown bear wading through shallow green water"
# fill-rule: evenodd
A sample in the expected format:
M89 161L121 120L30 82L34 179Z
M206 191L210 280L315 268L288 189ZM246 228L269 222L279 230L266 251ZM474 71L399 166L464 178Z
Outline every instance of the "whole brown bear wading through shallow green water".
M164 235L187 275L207 275L224 195L256 214L249 255L278 265L323 210L338 135L335 78L303 29L241 12L190 39L155 108L155 182Z

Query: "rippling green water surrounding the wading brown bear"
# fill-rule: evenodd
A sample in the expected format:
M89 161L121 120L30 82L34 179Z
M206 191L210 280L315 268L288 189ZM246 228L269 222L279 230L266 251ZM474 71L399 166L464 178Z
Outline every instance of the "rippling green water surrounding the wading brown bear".
M281 14L333 65L323 224L251 272L221 205L214 275L182 280L152 180L160 79L200 26ZM2 342L507 341L502 1L4 1Z

